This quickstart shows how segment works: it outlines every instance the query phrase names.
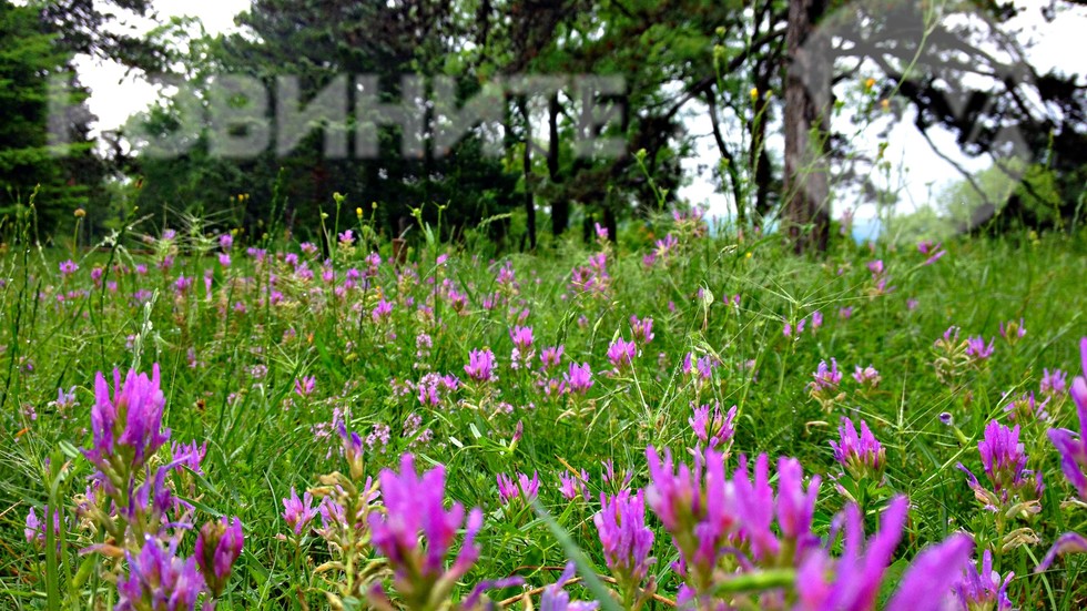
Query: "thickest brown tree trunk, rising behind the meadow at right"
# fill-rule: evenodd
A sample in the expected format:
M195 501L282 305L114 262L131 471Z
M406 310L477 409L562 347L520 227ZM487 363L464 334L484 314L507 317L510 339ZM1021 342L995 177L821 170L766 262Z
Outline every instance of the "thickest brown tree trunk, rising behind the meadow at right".
M785 82L785 225L798 253L826 250L830 40L814 29L827 0L790 0Z

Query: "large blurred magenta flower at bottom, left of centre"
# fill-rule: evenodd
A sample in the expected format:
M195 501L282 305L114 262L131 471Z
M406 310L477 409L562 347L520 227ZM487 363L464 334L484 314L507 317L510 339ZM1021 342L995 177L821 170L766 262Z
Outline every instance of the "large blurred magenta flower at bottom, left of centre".
M446 510L445 467L438 465L419 477L410 454L400 458L400 472L382 471L380 485L386 510L369 513L374 547L388 558L396 591L406 605L427 608L425 603L431 598L444 600L479 558L475 539L482 527L482 511L473 509L465 523L459 502ZM460 551L446 569L445 559L461 526L465 537Z

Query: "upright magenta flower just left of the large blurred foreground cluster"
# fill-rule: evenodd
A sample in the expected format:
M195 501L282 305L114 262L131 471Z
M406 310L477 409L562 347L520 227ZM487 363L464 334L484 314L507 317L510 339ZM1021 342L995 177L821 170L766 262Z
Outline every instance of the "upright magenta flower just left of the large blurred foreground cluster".
M633 497L623 490L614 497L600 493L600 511L592 517L597 526L605 561L620 583L639 584L656 561L649 557L653 531L646 527L646 499L642 490Z

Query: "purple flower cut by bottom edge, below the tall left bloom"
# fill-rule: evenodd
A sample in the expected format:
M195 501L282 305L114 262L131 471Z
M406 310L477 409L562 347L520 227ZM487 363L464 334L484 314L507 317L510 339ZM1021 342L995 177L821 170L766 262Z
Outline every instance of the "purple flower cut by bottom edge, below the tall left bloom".
M204 580L196 570L195 559L183 560L175 553L176 543L163 549L151 537L143 542L139 554L124 552L129 577L118 578L116 611L195 609Z

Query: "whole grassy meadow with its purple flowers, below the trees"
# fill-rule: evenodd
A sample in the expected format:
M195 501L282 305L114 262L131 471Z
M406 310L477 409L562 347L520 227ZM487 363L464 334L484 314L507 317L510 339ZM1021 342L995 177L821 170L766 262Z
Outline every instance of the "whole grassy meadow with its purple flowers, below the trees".
M0 608L1087 604L1083 232L652 231L6 245Z

